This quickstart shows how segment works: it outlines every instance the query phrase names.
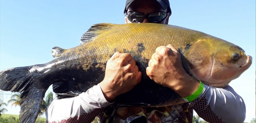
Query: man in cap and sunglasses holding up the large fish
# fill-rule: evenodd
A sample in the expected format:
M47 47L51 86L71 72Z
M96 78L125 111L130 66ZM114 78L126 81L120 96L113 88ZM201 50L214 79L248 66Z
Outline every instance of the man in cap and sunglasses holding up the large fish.
M168 24L171 8L168 0L126 0L124 14L126 23ZM77 97L54 99L47 109L47 122L90 123L98 116L101 123L192 123L193 110L210 123L245 120L242 97L229 85L211 87L192 78L183 69L179 51L171 44L156 48L148 65L150 79L177 92L185 103L163 107L113 104L115 97L133 89L142 76L131 54L117 52L107 61L100 84Z

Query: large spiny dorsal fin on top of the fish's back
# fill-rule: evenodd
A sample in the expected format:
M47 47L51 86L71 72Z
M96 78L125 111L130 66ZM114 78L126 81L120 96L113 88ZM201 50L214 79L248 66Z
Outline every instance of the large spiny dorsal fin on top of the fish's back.
M84 33L80 39L80 44L90 42L95 39L96 36L117 27L116 24L112 23L98 23L92 25L86 33Z

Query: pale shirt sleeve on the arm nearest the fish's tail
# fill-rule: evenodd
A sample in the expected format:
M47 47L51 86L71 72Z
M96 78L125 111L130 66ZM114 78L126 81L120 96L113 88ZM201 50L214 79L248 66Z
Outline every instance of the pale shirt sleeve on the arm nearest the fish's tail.
M47 123L91 123L109 103L102 93L100 84L93 86L77 97L57 99L48 106Z

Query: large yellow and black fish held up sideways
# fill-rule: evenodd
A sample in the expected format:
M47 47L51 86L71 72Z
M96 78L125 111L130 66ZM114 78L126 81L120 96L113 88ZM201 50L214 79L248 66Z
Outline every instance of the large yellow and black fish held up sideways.
M0 72L0 89L22 92L20 120L35 121L44 94L53 84L58 98L86 92L104 78L107 60L116 52L131 53L142 72L141 83L115 98L115 103L166 106L184 103L172 89L150 80L145 72L155 49L172 44L182 54L186 72L205 84L224 87L247 70L251 56L239 46L220 38L173 25L100 23L82 36L81 45L54 47L54 60L46 64L16 67Z

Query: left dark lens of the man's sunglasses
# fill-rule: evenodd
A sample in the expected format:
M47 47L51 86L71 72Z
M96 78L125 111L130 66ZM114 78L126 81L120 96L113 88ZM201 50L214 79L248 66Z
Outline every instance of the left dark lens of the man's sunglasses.
M134 11L127 12L126 17L128 18L128 20L130 20L133 23L140 23L144 19L143 14L141 14L139 12L134 12Z

